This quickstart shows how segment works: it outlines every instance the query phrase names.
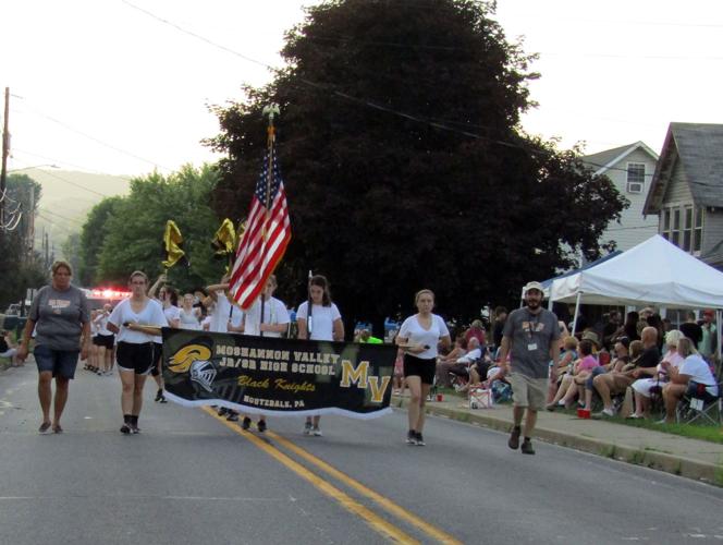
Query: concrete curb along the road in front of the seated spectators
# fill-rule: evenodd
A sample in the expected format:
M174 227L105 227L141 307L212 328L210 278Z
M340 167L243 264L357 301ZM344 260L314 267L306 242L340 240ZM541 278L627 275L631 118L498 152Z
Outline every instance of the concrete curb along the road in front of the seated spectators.
M392 407L406 409L409 404L408 398L397 398L392 400ZM498 432L510 432L511 423L507 420L495 417L479 410L478 412L466 412L450 409L448 407L434 405L428 403L425 405L425 412L434 416L443 416L458 422L476 424ZM628 445L615 445L614 443L600 439L580 437L575 434L566 434L556 429L546 427L535 428L535 438L546 443L560 445L562 447L573 448L583 452L611 458L622 462L644 465L658 471L664 471L674 475L702 481L708 484L723 486L723 465L691 460L679 456L657 452L649 449L640 449Z

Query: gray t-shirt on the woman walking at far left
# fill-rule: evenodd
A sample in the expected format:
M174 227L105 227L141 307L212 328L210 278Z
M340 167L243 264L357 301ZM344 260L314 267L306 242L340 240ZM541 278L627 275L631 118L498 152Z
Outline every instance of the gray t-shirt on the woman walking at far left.
M46 286L35 295L28 318L35 322L36 344L81 350L81 332L90 319L90 308L85 293L75 286L64 291Z

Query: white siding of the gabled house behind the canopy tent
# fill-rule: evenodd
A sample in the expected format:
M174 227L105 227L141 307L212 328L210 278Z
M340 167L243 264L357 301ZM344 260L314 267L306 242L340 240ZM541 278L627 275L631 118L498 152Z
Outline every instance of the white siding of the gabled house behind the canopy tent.
M646 166L645 186L641 193L627 192L628 162L639 162ZM630 202L630 206L623 210L620 223L612 222L608 226L608 229L602 234L602 241L614 240L617 243L617 250L625 251L658 232L658 217L642 216L642 206L650 190L650 182L654 171L655 160L644 149L637 148L603 172L612 180L620 194Z

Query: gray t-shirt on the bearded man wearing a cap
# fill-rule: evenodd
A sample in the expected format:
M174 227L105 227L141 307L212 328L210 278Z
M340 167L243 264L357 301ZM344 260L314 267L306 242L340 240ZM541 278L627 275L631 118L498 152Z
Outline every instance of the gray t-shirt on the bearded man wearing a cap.
M510 338L512 372L530 378L547 378L550 346L560 338L554 313L542 308L538 314L527 306L513 311L504 324L503 335Z

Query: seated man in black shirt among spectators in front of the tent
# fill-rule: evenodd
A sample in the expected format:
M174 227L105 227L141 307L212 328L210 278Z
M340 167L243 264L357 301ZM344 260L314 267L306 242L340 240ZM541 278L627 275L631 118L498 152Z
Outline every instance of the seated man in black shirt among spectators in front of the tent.
M641 331L642 353L636 358L639 344L630 343L630 363L621 372L604 373L592 379L592 386L602 398L603 410L600 416L613 415L612 396L625 393L625 390L636 379L653 376L660 362L658 350L658 330L654 327L645 327Z

